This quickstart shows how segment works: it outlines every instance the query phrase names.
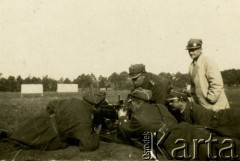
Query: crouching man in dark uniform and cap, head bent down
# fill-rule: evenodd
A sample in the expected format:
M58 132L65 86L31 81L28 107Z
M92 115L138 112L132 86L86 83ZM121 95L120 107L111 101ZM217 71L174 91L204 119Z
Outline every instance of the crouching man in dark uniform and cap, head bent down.
M165 104L166 98L172 89L171 83L166 78L146 72L145 65L134 64L129 67L129 78L132 80L134 89L143 88L152 91L151 101Z

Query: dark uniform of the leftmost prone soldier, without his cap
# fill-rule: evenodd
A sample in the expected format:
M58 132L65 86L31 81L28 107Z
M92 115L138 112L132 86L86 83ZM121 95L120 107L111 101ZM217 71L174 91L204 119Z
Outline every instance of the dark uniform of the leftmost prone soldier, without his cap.
M51 114L55 114L59 135L49 119ZM95 150L99 135L92 133L92 116L92 106L83 100L54 100L47 105L47 111L28 120L10 138L43 150L66 148L72 143L80 150Z

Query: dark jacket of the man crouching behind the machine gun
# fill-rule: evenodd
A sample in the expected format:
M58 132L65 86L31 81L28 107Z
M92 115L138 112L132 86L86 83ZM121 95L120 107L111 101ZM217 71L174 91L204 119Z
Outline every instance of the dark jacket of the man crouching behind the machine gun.
M145 73L145 79L140 87L151 90L151 100L158 104L165 104L165 100L168 98L172 88L170 81L152 73Z

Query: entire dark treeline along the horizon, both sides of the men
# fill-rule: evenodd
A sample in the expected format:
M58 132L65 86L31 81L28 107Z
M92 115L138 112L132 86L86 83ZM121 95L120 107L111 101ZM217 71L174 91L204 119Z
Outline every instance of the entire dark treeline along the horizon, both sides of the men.
M240 70L229 69L221 72L224 84L227 86L239 86L240 85ZM43 90L56 91L58 83L75 83L79 88L112 88L114 90L130 90L132 89L131 80L128 79L128 73L126 71L121 73L112 73L109 77L100 75L98 78L94 74L82 74L76 79L70 80L69 78L61 78L55 80L47 75L39 77L27 77L23 79L21 76L9 76L4 78L0 74L0 91L2 92L19 92L21 91L21 84L43 84ZM174 87L185 88L189 83L190 78L188 74L182 74L180 72L176 74L160 73L159 75L169 79Z

